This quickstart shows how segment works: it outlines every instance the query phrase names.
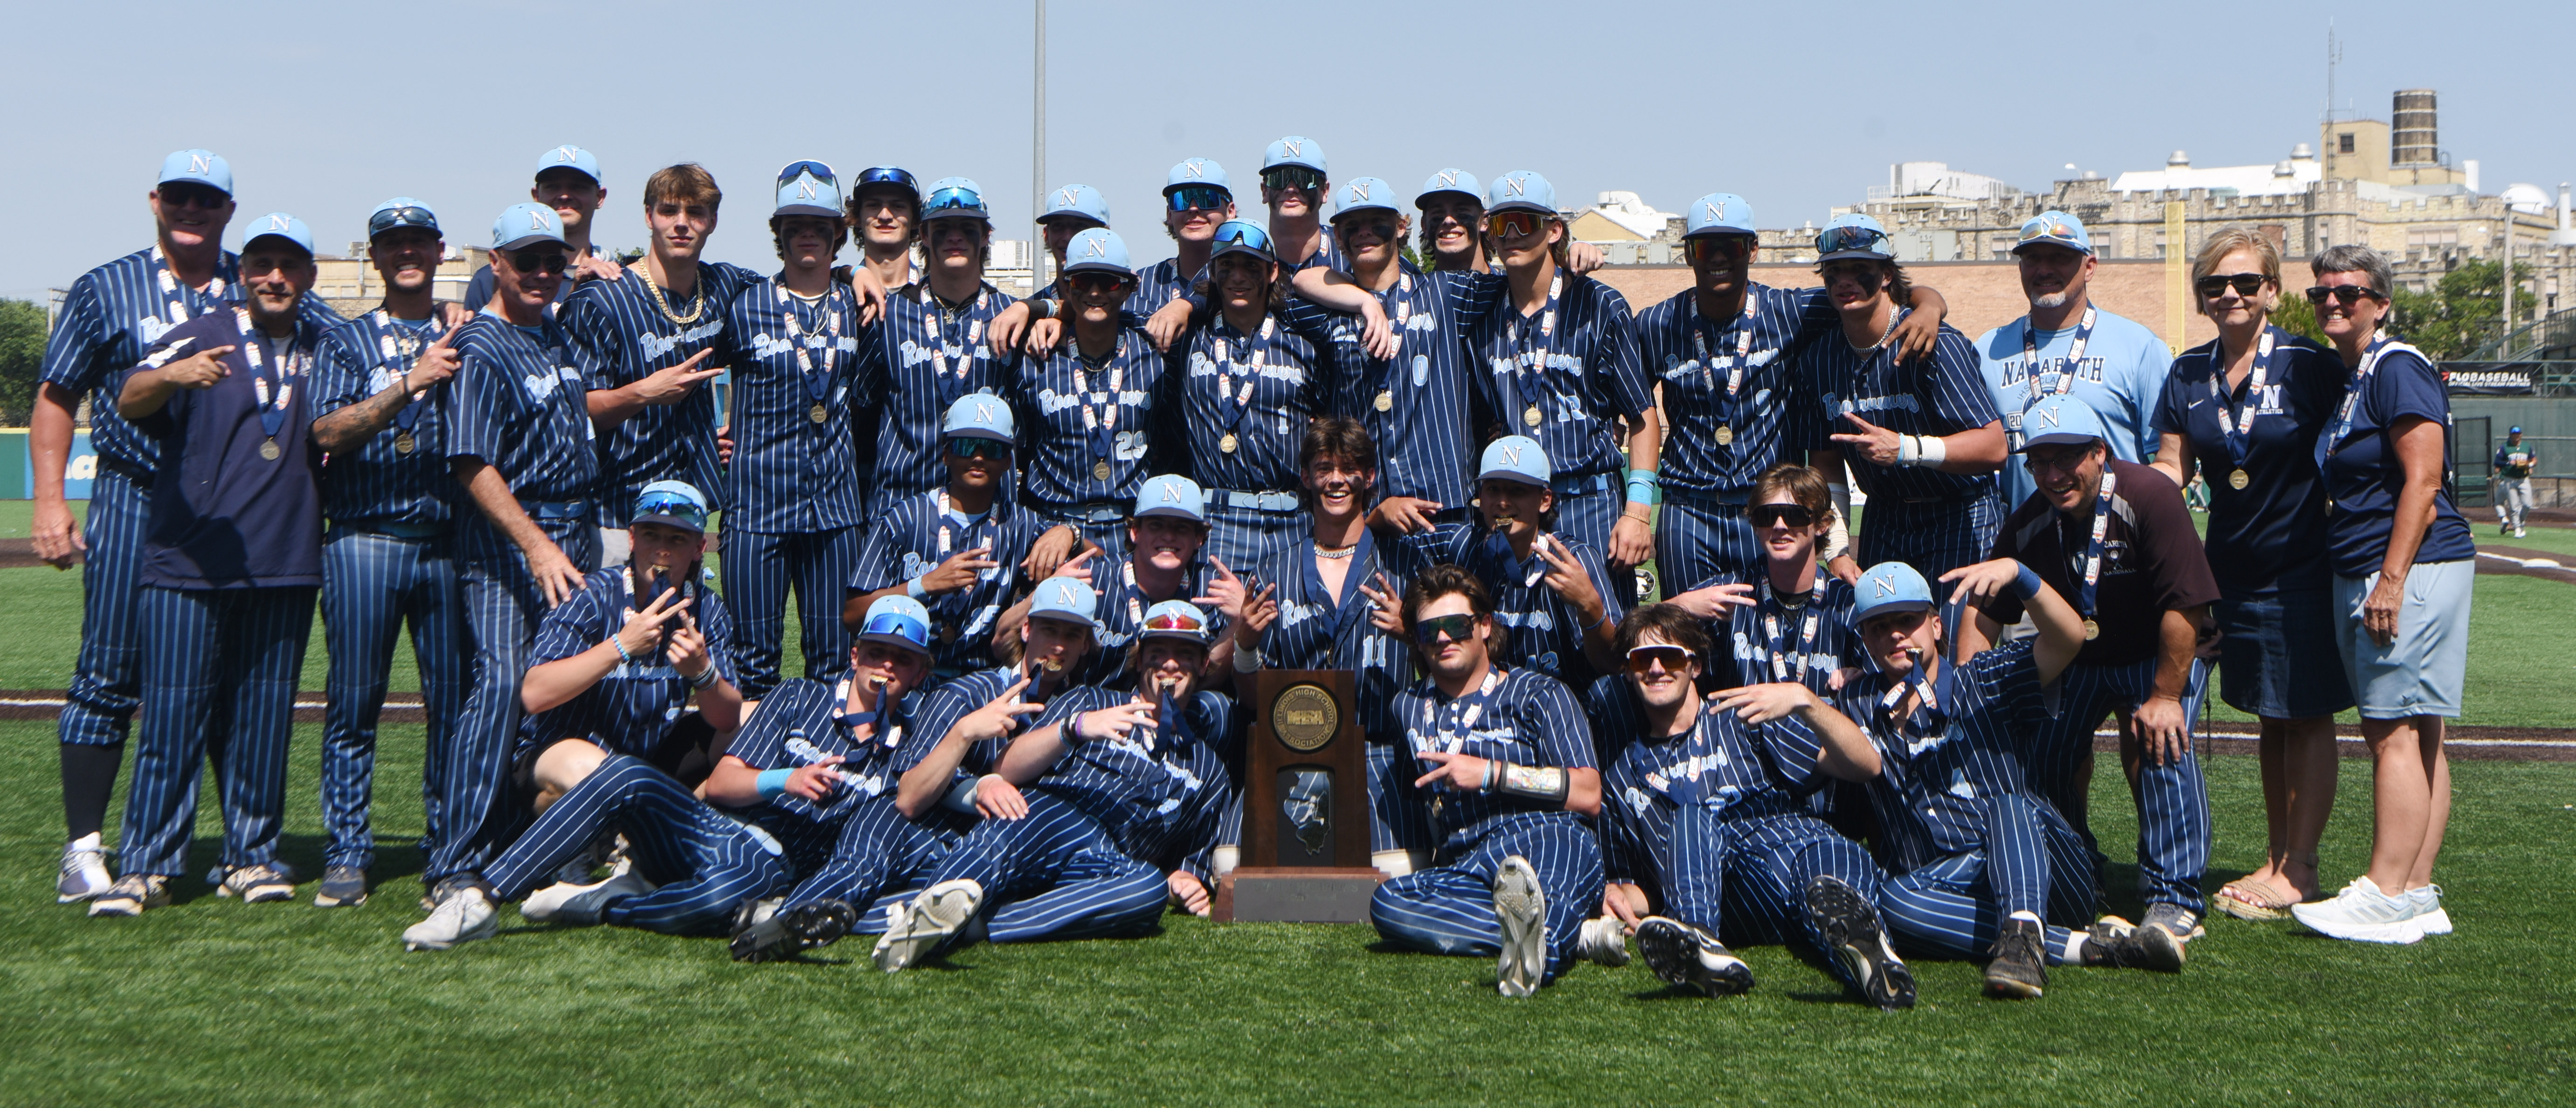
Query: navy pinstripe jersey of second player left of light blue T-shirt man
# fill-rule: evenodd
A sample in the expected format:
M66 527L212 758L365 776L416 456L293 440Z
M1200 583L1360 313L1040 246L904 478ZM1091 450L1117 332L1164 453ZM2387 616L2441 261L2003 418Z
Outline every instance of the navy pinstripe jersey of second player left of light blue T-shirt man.
M1754 314L1708 320L1695 289L1636 314L1636 345L1664 381L1667 490L1744 500L1754 477L1816 441L1816 402L1795 371L1798 350L1842 325L1824 289L1744 289ZM1747 340L1747 327L1749 340ZM1744 379L1728 399L1726 379L1744 348ZM1705 350L1705 358L1703 358ZM1718 428L1728 443L1718 443Z

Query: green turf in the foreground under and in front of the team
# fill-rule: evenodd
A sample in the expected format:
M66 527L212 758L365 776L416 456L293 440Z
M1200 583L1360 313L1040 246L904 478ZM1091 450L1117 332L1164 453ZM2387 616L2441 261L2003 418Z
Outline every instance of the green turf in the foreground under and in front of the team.
M46 884L52 724L0 724L0 773L26 783L0 799L0 1103L2563 1103L2576 1082L2563 763L2455 763L2452 938L2213 920L2179 977L2061 969L2045 1000L2004 1005L1978 1000L1976 966L1927 961L1922 1008L1880 1015L1770 946L1744 951L1762 984L1736 1000L1631 964L1507 1002L1489 961L1378 951L1368 928L1185 917L902 977L855 941L737 966L721 941L515 910L495 941L404 953L420 729L389 732L379 837L404 845L366 907L247 907L191 879L175 907L88 920ZM2336 884L2365 863L2367 773L2344 763ZM2125 843L2112 781L2097 830ZM2215 758L2210 794L2215 886L2262 853L2254 760ZM219 845L201 825L198 866ZM286 855L319 866L312 727ZM2112 907L2128 881L2115 866Z

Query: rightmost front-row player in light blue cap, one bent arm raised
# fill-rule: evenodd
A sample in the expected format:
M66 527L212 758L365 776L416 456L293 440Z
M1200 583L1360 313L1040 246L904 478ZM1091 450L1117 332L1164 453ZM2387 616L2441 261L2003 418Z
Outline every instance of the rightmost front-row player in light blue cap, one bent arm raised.
M2130 928L2094 907L2094 861L2084 837L2022 781L2022 734L2048 711L2043 688L2084 644L2081 616L2038 572L2012 559L1950 572L1960 603L2014 595L2038 636L1942 665L1932 585L1904 562L1860 575L1852 626L1875 662L1837 698L1839 721L1811 711L1816 729L1857 727L1878 750L1870 804L1886 835L1891 879L1878 912L1899 946L1942 959L1989 956L1986 995L2027 1000L2050 964L2182 969L2182 943L2164 928Z

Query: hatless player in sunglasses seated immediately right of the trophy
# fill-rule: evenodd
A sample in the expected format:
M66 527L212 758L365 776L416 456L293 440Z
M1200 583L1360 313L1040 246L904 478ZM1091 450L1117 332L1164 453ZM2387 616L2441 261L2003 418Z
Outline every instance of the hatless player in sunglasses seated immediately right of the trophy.
M1396 946L1497 959L1504 997L1538 992L1577 956L1625 961L1625 948L1579 943L1602 897L1587 825L1602 786L1574 693L1497 662L1507 631L1466 569L1425 569L1401 611L1430 675L1396 693L1394 716L1440 848L1430 868L1381 884L1368 920Z

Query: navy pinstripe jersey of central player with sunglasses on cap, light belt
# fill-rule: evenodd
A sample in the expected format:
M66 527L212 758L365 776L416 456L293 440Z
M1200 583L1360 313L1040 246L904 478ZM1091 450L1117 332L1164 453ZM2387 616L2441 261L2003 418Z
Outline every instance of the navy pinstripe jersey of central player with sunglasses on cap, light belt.
M1164 389L1175 394L1154 405L1164 417L1154 435L1182 446L1182 472L1208 492L1296 490L1306 423L1327 412L1332 394L1332 335L1301 332L1278 312L1247 335L1211 312L1172 343L1172 356L1180 368L1164 371Z

